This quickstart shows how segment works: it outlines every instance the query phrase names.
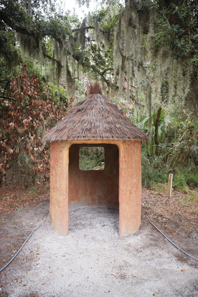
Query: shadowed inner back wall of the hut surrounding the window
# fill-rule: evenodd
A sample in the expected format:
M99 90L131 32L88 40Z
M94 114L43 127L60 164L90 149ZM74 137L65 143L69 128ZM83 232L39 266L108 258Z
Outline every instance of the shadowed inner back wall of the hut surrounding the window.
M104 147L104 170L80 170L82 146ZM115 144L72 144L69 148L69 203L119 205L119 150Z

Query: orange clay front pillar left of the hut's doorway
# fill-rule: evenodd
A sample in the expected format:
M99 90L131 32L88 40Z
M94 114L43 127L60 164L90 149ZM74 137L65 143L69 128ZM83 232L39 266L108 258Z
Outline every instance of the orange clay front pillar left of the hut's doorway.
M50 222L60 235L68 234L68 163L66 141L50 143Z

